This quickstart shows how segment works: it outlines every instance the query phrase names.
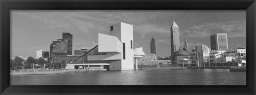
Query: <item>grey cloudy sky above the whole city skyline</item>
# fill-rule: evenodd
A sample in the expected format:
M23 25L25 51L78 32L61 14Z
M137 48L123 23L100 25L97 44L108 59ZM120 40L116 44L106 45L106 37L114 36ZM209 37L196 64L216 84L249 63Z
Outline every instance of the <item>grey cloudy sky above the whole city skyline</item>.
M73 34L74 50L91 48L98 33L109 34L109 25L133 25L134 48L150 54L151 38L156 40L159 57L171 55L170 28L179 26L180 48L187 38L189 49L210 46L210 35L227 33L229 48L246 46L244 10L12 10L11 57L36 57L36 50L50 51L52 41L62 32Z

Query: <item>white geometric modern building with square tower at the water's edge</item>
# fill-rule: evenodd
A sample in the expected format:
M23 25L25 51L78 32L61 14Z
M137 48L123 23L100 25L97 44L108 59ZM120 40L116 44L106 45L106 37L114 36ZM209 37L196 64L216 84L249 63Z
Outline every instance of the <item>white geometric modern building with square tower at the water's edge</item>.
M134 70L134 58L144 56L141 54L142 48L135 49L135 51L133 49L133 25L131 24L119 22L109 25L109 35L99 33L98 42L94 43L96 46L84 54L87 56L87 61L98 64L108 61L109 70ZM67 67L73 68L74 66Z

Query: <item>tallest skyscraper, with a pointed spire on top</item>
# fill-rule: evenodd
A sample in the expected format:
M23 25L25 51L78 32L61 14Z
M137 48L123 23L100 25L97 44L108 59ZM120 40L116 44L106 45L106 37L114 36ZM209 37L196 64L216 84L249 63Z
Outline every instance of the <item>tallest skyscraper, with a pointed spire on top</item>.
M171 55L179 50L180 48L180 33L179 27L176 22L173 20L173 24L171 26Z

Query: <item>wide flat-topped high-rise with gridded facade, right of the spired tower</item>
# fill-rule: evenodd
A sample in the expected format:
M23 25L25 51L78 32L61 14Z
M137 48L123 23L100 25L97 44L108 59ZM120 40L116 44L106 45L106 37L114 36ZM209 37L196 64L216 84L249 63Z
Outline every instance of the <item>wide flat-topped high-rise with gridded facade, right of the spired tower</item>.
M210 36L212 50L228 49L227 33L215 33Z

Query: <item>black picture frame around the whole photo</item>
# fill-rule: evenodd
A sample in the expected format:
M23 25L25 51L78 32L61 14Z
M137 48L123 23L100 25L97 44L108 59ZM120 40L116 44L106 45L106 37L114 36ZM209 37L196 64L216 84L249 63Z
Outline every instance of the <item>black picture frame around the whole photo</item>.
M256 94L255 0L1 0L1 94ZM10 10L246 10L246 85L10 85Z

